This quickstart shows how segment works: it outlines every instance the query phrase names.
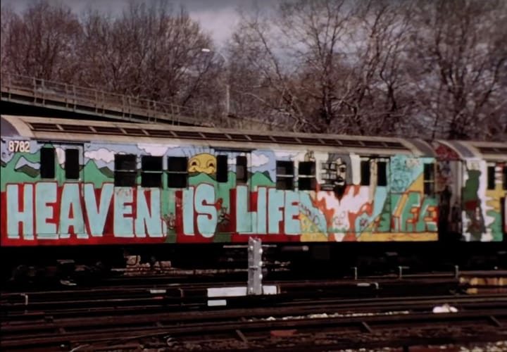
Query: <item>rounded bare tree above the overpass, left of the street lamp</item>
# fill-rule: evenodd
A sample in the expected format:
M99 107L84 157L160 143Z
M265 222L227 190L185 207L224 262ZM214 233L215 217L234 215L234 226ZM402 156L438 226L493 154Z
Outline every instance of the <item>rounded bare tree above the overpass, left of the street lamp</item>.
M211 39L183 9L132 1L119 18L89 11L83 26L85 84L184 106L212 91L220 68L201 51Z

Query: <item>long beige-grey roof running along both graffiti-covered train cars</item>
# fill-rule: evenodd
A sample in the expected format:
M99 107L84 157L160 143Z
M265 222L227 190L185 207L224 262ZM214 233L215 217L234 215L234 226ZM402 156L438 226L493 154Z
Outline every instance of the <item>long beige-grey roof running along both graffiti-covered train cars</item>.
M110 143L177 143L199 146L220 145L230 149L309 149L332 151L340 149L352 153L379 155L411 154L435 156L432 146L423 139L397 137L366 137L344 134L311 134L296 132L259 132L253 130L230 130L213 127L189 127L168 124L143 124L40 118L1 115L2 137L59 142L110 142ZM169 142L170 141L170 142ZM456 144L458 143L458 144ZM507 151L507 143L456 142L451 147L460 156L482 156L482 153L498 158ZM449 144L448 144L449 145ZM469 155L470 154L470 155ZM507 158L507 153L503 153Z

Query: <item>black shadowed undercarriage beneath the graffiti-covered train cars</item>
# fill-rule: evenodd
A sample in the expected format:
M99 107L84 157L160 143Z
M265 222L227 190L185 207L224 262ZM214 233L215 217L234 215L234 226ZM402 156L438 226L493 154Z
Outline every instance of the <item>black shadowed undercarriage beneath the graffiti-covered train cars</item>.
M470 243L342 242L270 244L264 242L265 277L349 277L404 272L507 269L505 241ZM135 246L32 246L1 248L3 283L44 284L99 281L118 275L132 258L145 272L246 270L246 244L162 244ZM119 271L118 271L119 270ZM282 273L283 272L283 273Z

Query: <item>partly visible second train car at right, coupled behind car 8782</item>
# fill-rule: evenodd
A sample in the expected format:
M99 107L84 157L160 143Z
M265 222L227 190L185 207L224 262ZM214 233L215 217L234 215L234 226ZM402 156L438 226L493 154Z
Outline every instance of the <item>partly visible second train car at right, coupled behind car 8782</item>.
M439 232L463 241L507 234L507 143L438 141Z

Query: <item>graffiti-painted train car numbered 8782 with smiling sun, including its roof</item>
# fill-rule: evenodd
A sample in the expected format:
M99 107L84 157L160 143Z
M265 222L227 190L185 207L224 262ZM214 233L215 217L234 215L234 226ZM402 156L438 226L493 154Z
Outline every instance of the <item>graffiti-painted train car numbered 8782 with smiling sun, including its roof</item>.
M422 142L4 120L3 246L437 239Z

